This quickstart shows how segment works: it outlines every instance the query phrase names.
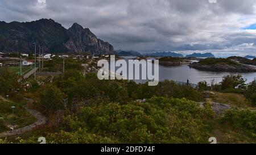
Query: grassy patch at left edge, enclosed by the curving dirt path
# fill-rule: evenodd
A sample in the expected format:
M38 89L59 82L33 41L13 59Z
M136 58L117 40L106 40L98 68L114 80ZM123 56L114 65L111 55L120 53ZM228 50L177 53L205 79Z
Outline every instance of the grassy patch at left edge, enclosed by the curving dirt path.
M12 110L14 108L14 114ZM36 119L29 114L22 103L13 103L0 97L0 132L9 131L8 126L15 126L14 129L22 128L34 123Z

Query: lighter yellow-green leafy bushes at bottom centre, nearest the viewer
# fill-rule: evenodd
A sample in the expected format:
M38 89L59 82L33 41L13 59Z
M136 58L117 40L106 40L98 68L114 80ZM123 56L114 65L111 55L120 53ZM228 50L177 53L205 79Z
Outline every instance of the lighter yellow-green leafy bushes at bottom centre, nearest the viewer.
M80 139L79 143L98 143L97 139L109 143L207 143L212 118L210 107L201 108L186 99L154 97L127 104L102 102L82 107L77 114L65 118L60 126L63 131L56 135L67 137L61 143L74 139ZM97 137L94 141L92 135Z

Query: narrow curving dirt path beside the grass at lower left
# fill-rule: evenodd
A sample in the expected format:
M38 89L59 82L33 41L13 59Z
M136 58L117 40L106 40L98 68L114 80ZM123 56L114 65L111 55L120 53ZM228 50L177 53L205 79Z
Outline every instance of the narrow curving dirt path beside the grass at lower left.
M26 127L23 127L23 128L14 129L13 131L2 132L2 133L0 133L0 137L20 135L24 132L31 131L32 129L38 127L39 125L46 124L46 118L40 112L38 112L36 110L31 110L31 109L28 109L28 108L26 108L26 110L31 115L33 115L37 119L37 121L35 123L33 123L31 125L28 125Z

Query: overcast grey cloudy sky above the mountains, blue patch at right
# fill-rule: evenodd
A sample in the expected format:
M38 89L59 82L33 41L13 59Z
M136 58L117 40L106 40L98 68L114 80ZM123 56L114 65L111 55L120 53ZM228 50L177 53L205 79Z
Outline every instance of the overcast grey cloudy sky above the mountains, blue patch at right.
M115 49L256 56L255 0L0 1L0 20L40 18L79 23Z

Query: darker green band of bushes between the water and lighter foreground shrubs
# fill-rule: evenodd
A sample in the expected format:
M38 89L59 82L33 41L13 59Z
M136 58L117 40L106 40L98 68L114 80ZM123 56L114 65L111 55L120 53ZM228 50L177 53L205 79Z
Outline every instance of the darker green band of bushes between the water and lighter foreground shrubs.
M57 95L53 93L57 93ZM38 90L38 94L40 94L39 99L42 106L46 106L46 102L53 102L55 98L53 96L56 96L67 99L68 108L72 108L73 104L89 102L90 100L126 104L131 100L148 99L154 95L187 98L195 101L202 100L199 91L191 86L177 85L174 81L163 81L158 86L152 87L148 86L147 83L137 84L133 81L101 81L96 74L90 73L83 76L77 70L67 70L64 75L53 79L52 83L42 86ZM46 98L49 98L49 100ZM56 105L60 104L56 103ZM56 110L56 108L54 109Z

